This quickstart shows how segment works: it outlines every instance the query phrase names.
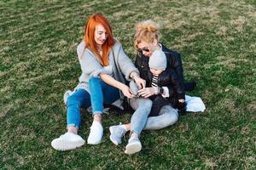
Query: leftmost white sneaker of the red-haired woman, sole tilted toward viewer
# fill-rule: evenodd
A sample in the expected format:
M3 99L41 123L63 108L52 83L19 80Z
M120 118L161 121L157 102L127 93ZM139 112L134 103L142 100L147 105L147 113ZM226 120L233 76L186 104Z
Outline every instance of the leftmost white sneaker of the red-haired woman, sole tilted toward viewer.
M51 146L55 150L73 150L84 145L84 143L84 139L78 134L67 132L61 135L60 138L51 141Z

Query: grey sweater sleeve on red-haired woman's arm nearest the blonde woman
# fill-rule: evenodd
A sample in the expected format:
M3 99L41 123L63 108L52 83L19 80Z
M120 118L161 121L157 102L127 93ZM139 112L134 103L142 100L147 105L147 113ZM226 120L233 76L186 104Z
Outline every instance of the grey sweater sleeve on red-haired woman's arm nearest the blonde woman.
M130 74L132 71L137 72L139 75L139 71L135 67L135 65L132 63L131 59L125 54L122 46L119 47L119 53L118 53L118 64L119 68L122 71L122 73L125 75L125 79L127 81L131 81Z

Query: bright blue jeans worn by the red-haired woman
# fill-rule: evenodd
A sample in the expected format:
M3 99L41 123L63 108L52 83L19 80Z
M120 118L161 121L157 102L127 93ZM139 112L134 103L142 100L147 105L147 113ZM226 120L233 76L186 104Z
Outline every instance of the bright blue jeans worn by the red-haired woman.
M102 114L104 104L112 104L119 99L119 90L103 82L100 78L89 79L90 94L84 89L78 89L67 98L67 127L80 127L81 108L92 107L92 113Z

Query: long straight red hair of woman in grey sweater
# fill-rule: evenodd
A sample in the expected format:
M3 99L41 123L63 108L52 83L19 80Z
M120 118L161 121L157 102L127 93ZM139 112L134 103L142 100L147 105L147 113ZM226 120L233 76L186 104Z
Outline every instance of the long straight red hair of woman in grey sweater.
M108 33L106 42L102 44L102 55L99 54L95 42L95 30L98 25L102 25ZM84 42L86 44L85 48L90 48L103 66L108 65L108 54L113 47L114 40L108 20L102 14L90 15L84 26Z

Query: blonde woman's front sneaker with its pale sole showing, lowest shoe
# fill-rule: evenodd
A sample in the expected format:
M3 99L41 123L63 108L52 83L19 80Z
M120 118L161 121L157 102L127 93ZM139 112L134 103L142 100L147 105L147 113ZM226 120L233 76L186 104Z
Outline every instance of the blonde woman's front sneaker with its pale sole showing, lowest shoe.
M142 144L137 136L131 137L128 144L125 146L125 154L131 155L142 150Z

